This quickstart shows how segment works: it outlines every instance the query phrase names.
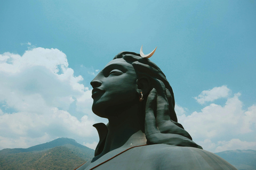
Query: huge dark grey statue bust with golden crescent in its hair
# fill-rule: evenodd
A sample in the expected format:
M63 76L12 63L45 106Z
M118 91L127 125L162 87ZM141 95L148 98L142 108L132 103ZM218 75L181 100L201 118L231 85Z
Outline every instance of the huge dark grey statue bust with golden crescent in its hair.
M156 50L156 49L155 49ZM236 169L203 150L177 122L169 82L149 55L122 52L92 80L95 157L77 169Z

